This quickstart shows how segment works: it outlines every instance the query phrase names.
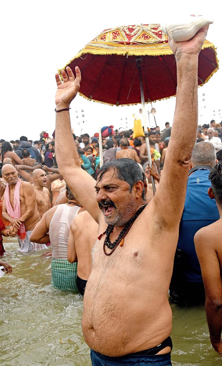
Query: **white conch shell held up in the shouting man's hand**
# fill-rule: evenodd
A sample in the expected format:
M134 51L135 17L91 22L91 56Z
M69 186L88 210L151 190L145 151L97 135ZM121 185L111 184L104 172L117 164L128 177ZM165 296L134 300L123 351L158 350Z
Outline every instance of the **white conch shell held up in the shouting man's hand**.
M207 19L202 15L184 16L181 19L169 19L165 24L161 24L162 31L175 42L188 41L194 37L196 32L206 25L212 24L213 20Z

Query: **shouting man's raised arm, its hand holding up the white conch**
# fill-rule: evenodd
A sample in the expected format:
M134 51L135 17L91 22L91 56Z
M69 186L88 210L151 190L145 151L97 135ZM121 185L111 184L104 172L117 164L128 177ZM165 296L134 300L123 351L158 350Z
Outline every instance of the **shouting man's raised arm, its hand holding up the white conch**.
M177 65L176 108L163 173L152 200L153 210L161 212L159 220L167 227L178 227L183 212L198 122L198 55L207 29L203 27L185 42L173 42L169 38Z

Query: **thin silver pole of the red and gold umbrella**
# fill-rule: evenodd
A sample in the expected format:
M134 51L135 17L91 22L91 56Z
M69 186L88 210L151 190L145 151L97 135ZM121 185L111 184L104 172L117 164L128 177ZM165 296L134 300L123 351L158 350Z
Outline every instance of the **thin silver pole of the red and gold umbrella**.
M139 80L140 80L140 94L141 94L141 104L142 104L142 111L143 111L143 122L144 122L144 135L147 144L147 156L149 161L149 166L152 167L152 158L149 146L149 138L148 138L148 129L147 129L147 119L146 119L146 110L145 110L145 99L144 99L144 92L143 92L143 79L142 79L142 72L141 72L141 59L136 60L138 73L139 73ZM154 183L154 179L151 176L152 188L153 188L153 195L156 193L156 187Z

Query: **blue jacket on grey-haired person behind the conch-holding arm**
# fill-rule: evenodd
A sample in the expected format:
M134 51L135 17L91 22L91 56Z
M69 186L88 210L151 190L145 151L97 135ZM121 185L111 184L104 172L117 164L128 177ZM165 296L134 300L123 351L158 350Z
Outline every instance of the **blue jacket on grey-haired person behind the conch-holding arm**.
M186 281L202 282L199 261L194 246L196 232L219 219L214 199L210 199L207 190L211 187L210 171L199 169L188 177L186 200L180 222L177 247L182 250L181 273ZM176 261L176 257L175 257Z

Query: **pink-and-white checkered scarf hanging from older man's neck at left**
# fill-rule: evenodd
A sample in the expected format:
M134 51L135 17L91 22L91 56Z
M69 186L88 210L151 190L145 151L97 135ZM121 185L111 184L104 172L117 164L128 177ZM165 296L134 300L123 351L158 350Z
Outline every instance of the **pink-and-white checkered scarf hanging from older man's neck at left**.
M9 194L9 185L6 184L5 188L5 206L9 216L13 219L20 219L21 217L21 206L20 206L20 186L21 180L19 179L15 185L15 192L14 192L14 210L12 208L10 202L10 194ZM21 240L25 239L26 237L26 228L25 225L22 224L18 229L18 236Z

